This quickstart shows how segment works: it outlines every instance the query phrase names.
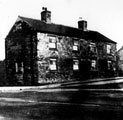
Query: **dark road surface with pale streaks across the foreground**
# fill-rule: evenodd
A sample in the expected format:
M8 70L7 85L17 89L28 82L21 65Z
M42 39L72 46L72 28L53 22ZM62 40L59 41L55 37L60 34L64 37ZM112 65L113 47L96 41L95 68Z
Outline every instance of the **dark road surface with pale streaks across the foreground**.
M123 120L123 89L108 88L87 88L77 82L1 92L0 120Z

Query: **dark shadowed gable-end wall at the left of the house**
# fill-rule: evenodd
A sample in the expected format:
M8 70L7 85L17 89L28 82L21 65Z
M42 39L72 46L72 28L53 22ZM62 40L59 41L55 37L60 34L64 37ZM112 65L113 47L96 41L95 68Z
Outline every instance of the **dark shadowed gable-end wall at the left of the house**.
M34 30L24 22L16 23L9 36L6 37L5 45L6 73L9 85L35 85L37 80L35 62L37 61L37 38Z

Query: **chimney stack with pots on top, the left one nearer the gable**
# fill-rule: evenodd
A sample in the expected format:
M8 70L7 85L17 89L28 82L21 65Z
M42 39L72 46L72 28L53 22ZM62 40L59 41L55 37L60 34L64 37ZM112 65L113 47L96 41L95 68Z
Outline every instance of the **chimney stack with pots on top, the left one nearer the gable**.
M42 8L41 21L51 23L51 11L48 11L46 7Z

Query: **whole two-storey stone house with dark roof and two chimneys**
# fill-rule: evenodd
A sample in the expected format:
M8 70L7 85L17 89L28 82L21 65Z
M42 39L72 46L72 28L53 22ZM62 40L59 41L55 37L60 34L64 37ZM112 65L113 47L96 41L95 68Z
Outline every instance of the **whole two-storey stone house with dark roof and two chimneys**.
M51 22L51 12L41 20L19 16L5 39L6 72L11 85L112 77L116 72L116 42L87 29Z

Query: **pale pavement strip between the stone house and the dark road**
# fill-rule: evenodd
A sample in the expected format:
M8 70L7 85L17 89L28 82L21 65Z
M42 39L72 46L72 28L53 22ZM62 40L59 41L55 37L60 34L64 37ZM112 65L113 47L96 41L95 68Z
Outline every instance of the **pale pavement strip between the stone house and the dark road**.
M76 87L81 86L84 89L90 88L90 86L106 86L110 84L121 84L123 83L123 77L112 77L112 78L97 78L97 79L89 79L89 80L81 80L81 81L67 81L67 82L61 82L61 83L52 83L47 85L40 85L40 86L7 86L7 87L0 87L0 92L23 92L23 91L35 91L35 90L43 90L43 89L50 89L52 91L52 88L57 88L56 90L61 90L58 88L66 88L64 91L67 91L67 89L71 89L71 91L76 91ZM121 85L122 87L122 85ZM73 89L75 88L75 89ZM79 88L79 87L78 87ZM46 90L45 90L46 91Z

